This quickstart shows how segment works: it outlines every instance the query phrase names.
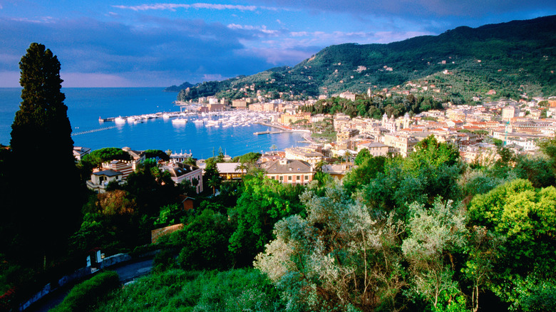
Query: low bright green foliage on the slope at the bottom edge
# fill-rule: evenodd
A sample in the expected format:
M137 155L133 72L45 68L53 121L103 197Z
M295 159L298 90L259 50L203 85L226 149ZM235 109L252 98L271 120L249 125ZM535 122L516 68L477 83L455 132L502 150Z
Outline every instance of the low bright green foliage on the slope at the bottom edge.
M277 298L267 277L254 269L171 269L113 292L94 311L283 311Z

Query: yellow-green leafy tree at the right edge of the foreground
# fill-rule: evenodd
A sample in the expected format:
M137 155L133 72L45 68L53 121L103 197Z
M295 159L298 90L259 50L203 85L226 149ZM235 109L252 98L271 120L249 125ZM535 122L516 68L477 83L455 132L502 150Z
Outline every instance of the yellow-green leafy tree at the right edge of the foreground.
M488 284L491 291L513 308L523 308L522 301L535 295L533 288L555 284L555 187L535 189L528 180L513 180L475 196L468 210L473 224L505 239Z

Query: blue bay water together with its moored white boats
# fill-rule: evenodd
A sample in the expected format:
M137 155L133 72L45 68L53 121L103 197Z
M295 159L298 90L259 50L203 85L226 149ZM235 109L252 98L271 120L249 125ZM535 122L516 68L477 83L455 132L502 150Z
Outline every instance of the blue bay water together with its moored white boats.
M302 146L303 133L253 135L253 132L289 130L279 128L279 113L249 110L199 112L200 105L180 108L175 93L160 88L64 88L68 118L75 146L98 150L130 147L132 150L180 150L192 157L212 157L220 147L227 155ZM0 102L6 108L0 142L9 143L11 123L19 109L21 90L4 90ZM195 107L196 106L196 107ZM176 112L177 110L177 112ZM99 116L102 116L99 119ZM116 118L118 123L116 123ZM186 123L172 123L178 118ZM210 121L212 120L212 121ZM216 126L217 125L217 126Z

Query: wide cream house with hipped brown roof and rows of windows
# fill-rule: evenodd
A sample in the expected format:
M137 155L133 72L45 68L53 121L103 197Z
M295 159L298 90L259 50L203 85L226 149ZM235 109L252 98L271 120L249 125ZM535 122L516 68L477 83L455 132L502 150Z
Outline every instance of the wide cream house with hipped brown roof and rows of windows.
M284 184L307 184L314 178L314 170L303 160L274 160L261 165L266 177Z

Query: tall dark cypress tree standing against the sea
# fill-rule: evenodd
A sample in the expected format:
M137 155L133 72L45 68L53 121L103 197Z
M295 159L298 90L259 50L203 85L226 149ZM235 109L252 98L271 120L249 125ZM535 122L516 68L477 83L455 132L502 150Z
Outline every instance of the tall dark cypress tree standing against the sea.
M83 184L73 158L58 58L42 44L31 43L19 68L22 101L11 125L11 148L12 159L25 165L11 172L13 202L2 207L14 212L5 220L16 229L19 255L36 261L41 254L45 266L49 256L66 249L68 236L78 228ZM48 180L40 187L24 187L36 176L37 163L51 169L44 172Z

